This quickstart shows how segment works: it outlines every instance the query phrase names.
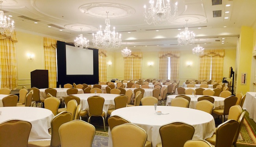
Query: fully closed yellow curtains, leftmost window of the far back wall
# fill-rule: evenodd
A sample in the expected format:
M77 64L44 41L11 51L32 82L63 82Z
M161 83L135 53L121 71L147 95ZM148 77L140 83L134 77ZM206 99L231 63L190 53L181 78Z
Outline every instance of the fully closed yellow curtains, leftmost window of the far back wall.
M134 52L129 57L124 57L124 79L141 78L141 52Z

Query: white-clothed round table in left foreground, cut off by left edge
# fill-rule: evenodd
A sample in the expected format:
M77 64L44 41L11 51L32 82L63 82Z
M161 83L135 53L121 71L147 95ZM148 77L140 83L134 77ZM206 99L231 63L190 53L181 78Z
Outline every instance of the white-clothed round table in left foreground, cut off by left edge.
M29 142L51 140L48 129L54 114L52 111L39 107L0 107L0 123L10 119L26 120L32 124ZM11 131L11 130L10 130Z

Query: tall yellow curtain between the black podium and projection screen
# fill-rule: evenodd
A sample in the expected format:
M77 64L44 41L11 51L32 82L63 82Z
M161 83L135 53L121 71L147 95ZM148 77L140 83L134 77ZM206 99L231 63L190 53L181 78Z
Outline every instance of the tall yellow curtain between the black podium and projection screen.
M56 88L57 85L56 43L57 40L44 37L45 69L48 70L48 81L51 88Z

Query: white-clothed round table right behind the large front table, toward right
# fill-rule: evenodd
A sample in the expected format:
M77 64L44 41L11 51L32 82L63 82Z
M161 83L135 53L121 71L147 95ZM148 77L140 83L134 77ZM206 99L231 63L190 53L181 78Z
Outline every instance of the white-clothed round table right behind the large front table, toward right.
M170 106L171 105L171 100L173 98L175 98L176 96L178 96L179 94L177 95L169 95L167 96L167 99L166 99L166 105ZM189 108L193 108L195 109L196 108L196 103L197 103L197 99L203 95L186 95L186 96L189 96L191 98L190 100L190 103L189 103ZM214 109L223 109L224 108L224 100L225 98L223 97L219 97L219 96L211 96L214 98Z

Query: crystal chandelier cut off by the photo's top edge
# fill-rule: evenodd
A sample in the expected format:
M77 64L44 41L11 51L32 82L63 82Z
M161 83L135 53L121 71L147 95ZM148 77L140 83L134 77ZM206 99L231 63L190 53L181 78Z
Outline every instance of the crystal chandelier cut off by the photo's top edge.
M164 0L156 0L156 5L154 6L154 0L149 0L150 7L148 8L148 11L146 12L146 5L144 5L145 8L145 21L147 24L154 24L154 25L160 25L160 24L166 24L170 18L176 15L178 9L177 9L177 2L175 3L173 7L173 10L171 9L170 0L167 0L167 4L165 5Z

